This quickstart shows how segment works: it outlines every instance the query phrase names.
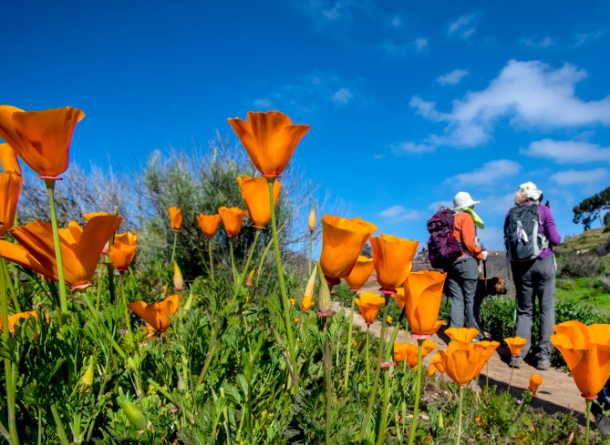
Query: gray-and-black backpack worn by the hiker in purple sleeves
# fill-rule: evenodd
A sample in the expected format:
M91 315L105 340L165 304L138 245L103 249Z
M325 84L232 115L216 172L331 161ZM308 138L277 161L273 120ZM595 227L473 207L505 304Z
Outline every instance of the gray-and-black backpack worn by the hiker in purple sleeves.
M511 208L504 225L504 243L513 261L538 258L549 244L544 237L538 206L531 204Z

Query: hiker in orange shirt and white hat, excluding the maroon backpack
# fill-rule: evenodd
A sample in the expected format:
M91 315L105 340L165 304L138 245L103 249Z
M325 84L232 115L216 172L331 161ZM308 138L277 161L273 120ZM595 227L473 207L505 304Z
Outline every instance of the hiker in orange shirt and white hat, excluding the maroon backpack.
M475 201L468 192L459 192L453 197L454 230L453 238L460 241L464 253L446 269L447 289L451 297L450 327L475 328L480 334L475 340L483 339L479 318L475 314L475 294L479 278L479 261L487 258L487 252L477 243L477 227L484 224L473 207L481 201Z

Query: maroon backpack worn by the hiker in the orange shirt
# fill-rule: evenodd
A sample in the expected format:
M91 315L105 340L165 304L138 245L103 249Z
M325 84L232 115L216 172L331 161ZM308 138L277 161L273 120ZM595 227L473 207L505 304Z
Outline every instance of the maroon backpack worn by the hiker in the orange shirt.
M450 208L440 208L428 220L428 258L432 268L449 268L450 264L464 252L460 241L451 233L455 228L453 211Z

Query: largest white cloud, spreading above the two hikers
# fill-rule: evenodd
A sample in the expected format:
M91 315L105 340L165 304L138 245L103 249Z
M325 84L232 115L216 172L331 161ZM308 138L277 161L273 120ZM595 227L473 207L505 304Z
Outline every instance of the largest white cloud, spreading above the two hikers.
M454 100L448 113L419 96L411 98L410 106L430 121L447 124L443 135L425 141L437 146L481 146L502 117L508 117L512 126L545 130L610 125L610 96L584 101L574 94L576 83L586 76L569 64L553 69L539 61L511 60L487 88Z

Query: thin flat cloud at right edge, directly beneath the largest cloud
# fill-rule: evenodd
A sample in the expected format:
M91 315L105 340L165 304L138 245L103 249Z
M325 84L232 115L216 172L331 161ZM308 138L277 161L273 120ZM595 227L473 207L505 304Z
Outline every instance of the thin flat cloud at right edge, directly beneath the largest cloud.
M528 148L520 150L528 157L543 157L557 164L587 164L589 162L610 162L610 147L580 141L556 141L543 139L534 141Z

